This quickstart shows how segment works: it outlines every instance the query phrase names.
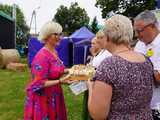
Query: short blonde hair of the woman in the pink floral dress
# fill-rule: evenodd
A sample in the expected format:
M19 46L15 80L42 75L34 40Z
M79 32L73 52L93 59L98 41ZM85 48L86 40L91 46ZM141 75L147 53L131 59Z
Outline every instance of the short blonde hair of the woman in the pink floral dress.
M45 23L39 33L39 40L45 42L45 40L53 33L61 33L62 26L59 23L49 21Z

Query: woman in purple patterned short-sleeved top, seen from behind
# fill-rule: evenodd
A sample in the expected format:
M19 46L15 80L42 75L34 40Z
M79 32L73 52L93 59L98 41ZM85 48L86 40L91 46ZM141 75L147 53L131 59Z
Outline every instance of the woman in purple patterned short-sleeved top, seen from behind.
M123 15L112 16L104 33L104 46L112 56L88 83L90 115L94 120L153 120L153 68L144 55L128 47L133 38L131 21Z

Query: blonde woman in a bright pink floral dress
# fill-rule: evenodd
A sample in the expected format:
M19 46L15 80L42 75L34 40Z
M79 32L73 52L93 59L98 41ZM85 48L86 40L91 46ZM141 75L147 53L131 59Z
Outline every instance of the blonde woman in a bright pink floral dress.
M67 120L60 76L64 65L55 46L59 43L62 27L46 23L40 31L45 46L36 54L32 65L32 82L27 86L24 120Z

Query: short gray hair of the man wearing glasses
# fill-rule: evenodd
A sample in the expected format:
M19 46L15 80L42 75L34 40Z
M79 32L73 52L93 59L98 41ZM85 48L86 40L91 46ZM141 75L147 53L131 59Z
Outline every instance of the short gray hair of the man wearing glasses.
M142 20L144 21L144 23L146 25L148 24L157 24L157 18L155 16L155 14L149 10L145 10L144 12L141 12L140 14L138 14L134 21L139 21Z

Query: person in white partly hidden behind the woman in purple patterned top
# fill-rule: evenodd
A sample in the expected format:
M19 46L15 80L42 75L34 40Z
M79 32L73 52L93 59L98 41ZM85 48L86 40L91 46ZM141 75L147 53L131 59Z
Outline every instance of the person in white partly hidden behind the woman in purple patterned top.
M105 58L111 56L112 54L108 50L104 49L105 40L104 40L104 32L102 30L99 30L97 32L95 42L100 47L100 51L97 53L97 55L93 57L91 65L97 68Z

